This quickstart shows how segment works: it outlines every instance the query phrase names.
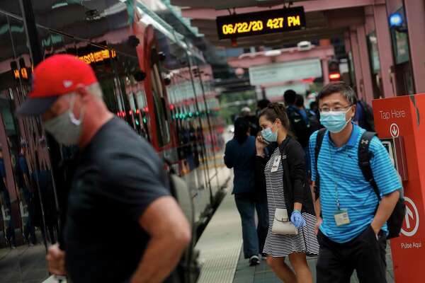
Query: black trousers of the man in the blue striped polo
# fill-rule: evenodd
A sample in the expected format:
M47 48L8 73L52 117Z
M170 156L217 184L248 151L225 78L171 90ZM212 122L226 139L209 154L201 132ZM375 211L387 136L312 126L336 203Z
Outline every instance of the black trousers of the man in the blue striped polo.
M385 248L387 238L383 231L376 239L368 226L348 243L335 243L319 231L320 250L317 259L317 283L349 283L356 270L360 283L386 283Z

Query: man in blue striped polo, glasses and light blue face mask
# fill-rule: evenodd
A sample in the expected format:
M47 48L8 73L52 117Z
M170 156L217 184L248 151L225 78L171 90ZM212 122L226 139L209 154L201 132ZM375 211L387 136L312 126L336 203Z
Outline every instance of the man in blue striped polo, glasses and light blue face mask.
M310 138L312 180L317 174L316 201L320 245L317 282L350 282L356 270L361 283L386 282L386 221L402 185L377 137L370 141L370 167L382 200L358 166L358 145L364 129L351 122L356 95L344 82L330 83L319 93L320 122L327 128L315 169L317 132ZM377 209L378 207L378 209ZM320 215L320 216L319 216Z

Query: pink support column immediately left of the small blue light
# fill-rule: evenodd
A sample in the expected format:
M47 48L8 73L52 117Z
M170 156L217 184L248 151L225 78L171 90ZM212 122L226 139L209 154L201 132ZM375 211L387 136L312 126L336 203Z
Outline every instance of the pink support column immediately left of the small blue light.
M387 9L384 4L373 6L375 18L376 37L378 38L378 52L380 72L382 78L383 95L385 98L395 96L395 80L391 74L394 66L392 58L392 44L390 37L390 26L388 25Z

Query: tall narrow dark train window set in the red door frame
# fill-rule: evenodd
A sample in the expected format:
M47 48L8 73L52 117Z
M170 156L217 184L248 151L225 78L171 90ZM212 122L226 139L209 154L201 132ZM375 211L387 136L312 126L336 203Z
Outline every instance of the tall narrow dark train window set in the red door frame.
M166 110L166 102L164 98L164 88L162 86L161 74L159 73L159 62L157 50L152 48L151 54L151 79L152 79L152 96L154 98L155 117L157 118L158 141L159 146L165 146L171 141L169 118Z

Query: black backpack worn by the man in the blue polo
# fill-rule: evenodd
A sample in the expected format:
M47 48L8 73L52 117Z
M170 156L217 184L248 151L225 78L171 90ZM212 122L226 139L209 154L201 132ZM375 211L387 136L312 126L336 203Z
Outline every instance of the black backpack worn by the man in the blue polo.
M317 171L317 158L319 158L320 148L322 147L322 141L324 134L326 133L326 129L321 129L317 132L316 146L314 148L314 156L316 161L316 183L314 186L314 193L316 195L315 199L320 195L320 180L319 180L319 172ZM372 154L369 151L370 141L375 137L374 132L364 132L361 136L360 144L358 145L358 166L363 173L365 180L368 180L370 185L373 187L373 191L378 197L378 201L380 202L381 197L378 189L378 185L376 185L375 179L373 178L372 168L370 168L370 158L372 158ZM378 204L379 205L379 204ZM377 207L378 209L378 207ZM387 220L388 226L388 235L387 239L396 238L399 236L399 233L402 229L404 216L406 215L406 204L404 204L404 199L402 194L400 193L400 198L395 204L394 210L390 218Z

